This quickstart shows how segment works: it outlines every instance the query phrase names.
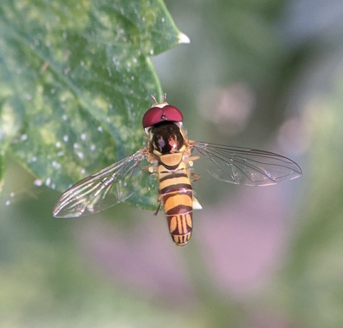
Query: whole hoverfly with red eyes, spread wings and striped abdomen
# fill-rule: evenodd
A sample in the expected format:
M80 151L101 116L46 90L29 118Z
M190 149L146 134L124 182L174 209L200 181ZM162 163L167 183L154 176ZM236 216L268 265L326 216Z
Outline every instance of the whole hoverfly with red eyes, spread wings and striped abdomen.
M194 150L207 158L213 177L232 184L269 186L301 175L295 162L276 153L187 139L182 113L165 99L163 94L158 103L152 96L154 105L143 116L147 146L69 188L56 201L56 218L93 214L125 201L132 193L123 197L121 190L130 184L134 172L144 169L159 181L155 214L163 205L172 240L184 246L191 237L193 209L202 208L191 186L200 178L191 171L193 161L199 159L192 155ZM144 158L151 166L139 166Z

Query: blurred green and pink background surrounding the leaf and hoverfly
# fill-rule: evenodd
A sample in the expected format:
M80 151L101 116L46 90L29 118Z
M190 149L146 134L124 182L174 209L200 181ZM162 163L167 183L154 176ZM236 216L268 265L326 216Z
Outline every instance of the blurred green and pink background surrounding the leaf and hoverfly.
M195 163L204 210L181 249L163 213L52 218L59 193L9 159L1 327L343 327L343 3L165 3L191 44L152 60L189 138L281 153L303 176L231 186Z

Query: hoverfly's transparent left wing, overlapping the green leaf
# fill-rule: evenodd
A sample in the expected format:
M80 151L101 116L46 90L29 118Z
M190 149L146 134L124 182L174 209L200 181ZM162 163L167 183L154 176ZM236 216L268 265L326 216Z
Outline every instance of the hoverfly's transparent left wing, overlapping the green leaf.
M56 218L73 218L93 214L131 197L135 190L129 180L141 172L139 162L145 157L144 150L89 175L69 188L56 201L53 215Z

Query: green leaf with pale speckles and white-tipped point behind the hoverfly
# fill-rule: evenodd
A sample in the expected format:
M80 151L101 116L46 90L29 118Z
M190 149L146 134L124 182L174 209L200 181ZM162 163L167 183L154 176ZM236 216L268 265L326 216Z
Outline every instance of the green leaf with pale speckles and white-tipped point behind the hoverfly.
M158 0L4 0L0 31L1 152L60 191L143 147L150 56L187 42ZM154 205L134 179L132 203Z

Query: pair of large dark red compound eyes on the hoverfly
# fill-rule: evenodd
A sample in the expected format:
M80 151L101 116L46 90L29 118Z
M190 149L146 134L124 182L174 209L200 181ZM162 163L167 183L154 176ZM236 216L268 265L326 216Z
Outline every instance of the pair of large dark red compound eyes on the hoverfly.
M178 108L165 105L163 108L153 107L148 110L143 116L143 128L151 127L156 123L160 123L162 121L176 121L182 122L183 116Z

